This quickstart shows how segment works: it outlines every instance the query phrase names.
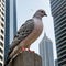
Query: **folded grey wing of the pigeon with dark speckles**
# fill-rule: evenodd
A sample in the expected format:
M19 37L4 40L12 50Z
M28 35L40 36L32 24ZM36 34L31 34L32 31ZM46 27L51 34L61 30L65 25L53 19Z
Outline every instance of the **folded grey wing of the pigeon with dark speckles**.
M30 19L18 31L10 46L10 51L12 51L21 41L23 41L33 31L33 29L34 29L34 20Z

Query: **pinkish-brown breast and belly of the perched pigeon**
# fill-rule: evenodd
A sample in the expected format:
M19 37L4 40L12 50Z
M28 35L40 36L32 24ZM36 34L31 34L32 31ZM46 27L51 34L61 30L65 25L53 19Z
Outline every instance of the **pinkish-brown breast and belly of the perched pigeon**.
M29 47L42 33L42 20L34 20L33 31L20 44L21 46Z

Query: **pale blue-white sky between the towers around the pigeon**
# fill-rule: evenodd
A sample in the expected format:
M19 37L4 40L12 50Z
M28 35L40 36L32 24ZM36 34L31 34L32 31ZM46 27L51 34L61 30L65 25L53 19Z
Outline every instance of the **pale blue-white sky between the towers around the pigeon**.
M56 44L55 44L55 34L54 34L54 22L53 16L51 14L51 4L50 0L16 0L16 18L18 18L18 30L20 26L29 19L33 16L36 10L43 9L46 11L47 16L43 18L43 32L41 36L31 45L31 50L38 52L38 44L42 41L44 33L48 36L48 38L53 42L53 53L54 59L56 59Z

